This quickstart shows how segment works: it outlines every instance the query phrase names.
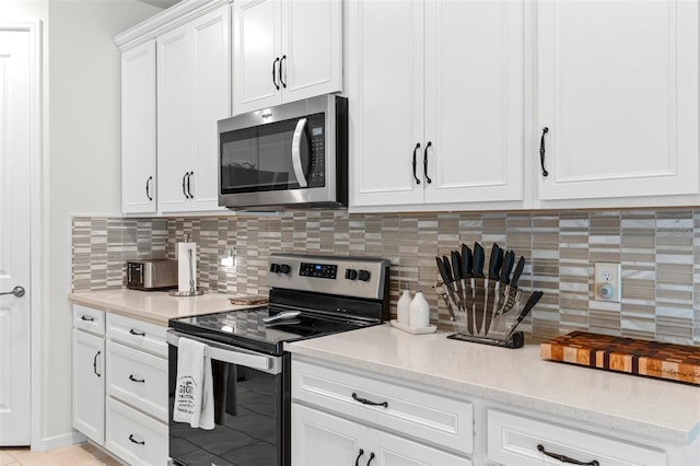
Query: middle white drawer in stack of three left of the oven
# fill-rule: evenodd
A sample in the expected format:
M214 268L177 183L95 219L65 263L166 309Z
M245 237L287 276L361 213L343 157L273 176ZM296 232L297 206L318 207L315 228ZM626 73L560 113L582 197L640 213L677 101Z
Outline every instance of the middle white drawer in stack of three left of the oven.
M167 360L107 341L107 395L167 421Z

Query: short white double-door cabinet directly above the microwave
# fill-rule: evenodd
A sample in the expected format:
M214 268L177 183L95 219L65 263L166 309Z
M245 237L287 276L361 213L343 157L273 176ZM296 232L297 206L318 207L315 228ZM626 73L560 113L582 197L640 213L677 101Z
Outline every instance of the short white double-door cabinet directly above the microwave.
M233 3L234 114L342 90L340 0Z

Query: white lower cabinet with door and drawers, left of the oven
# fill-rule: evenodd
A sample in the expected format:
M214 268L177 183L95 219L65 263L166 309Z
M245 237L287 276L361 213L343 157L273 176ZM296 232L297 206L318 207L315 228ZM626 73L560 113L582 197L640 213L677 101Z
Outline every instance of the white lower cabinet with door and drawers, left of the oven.
M73 306L73 428L126 464L167 464L164 326Z

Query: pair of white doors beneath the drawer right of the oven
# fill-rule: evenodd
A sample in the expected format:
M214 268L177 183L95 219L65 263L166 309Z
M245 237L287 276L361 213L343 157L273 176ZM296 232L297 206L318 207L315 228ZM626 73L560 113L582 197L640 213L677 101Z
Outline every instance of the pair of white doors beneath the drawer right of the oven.
M293 466L468 466L467 458L292 404Z

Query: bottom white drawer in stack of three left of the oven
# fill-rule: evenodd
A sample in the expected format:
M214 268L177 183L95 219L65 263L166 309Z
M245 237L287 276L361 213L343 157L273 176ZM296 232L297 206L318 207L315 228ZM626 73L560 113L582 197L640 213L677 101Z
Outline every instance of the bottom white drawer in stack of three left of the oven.
M107 398L106 448L129 465L167 463L167 424Z

